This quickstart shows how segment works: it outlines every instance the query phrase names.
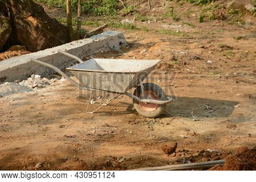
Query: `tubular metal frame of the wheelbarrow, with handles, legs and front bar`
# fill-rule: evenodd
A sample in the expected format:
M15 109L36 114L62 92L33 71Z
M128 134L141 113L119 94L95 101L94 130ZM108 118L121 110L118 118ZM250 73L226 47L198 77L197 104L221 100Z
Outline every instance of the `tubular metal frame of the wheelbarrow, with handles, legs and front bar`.
M65 55L65 56L68 56L68 57L71 57L72 59L75 59L77 61L79 61L79 63L84 63L84 61L82 61L79 57L77 56L74 56L68 52L64 52L64 51L61 51L61 50L57 50L59 53ZM105 105L109 105L111 102L113 102L117 97L121 96L121 95L126 95L128 97L131 97L133 98L134 100L137 100L139 102L144 102L144 103L151 103L151 104L158 104L158 105L162 105L162 104L168 104L169 102L172 101L172 98L170 97L167 97L167 100L165 101L159 101L159 100L150 100L150 99L145 99L145 98L139 98L137 96L135 96L134 94L131 94L129 92L127 92L127 90L123 93L120 93L120 92L113 92L113 91L109 91L109 90L101 90L101 89L93 89L93 88L88 88L86 87L85 85L81 85L81 84L78 84L75 80L73 80L72 78L70 78L69 76L67 76L64 72L60 71L59 68L51 65L51 64L48 64L48 63L44 63L43 61L39 61L37 59L31 59L31 61L35 62L35 63L38 63L40 65L43 65L45 67L48 67L48 68L51 68L53 69L54 71L56 71L57 73L59 73L61 76L63 76L64 78L66 78L68 81L70 81L73 85L75 85L77 88L81 89L81 90L86 90L86 91L91 91L92 93L90 94L90 99L89 99L89 102L88 102L88 106L86 108L86 112L87 113L94 113L96 112L98 109L100 109L102 106L105 106ZM144 87L143 87L143 83L142 83L142 78L139 78L139 85L141 86L141 90L144 90ZM138 85L136 85L138 86ZM102 104L100 107L98 107L96 110L92 111L92 112L88 112L88 108L89 108L89 105L90 105L90 101L92 100L92 96L93 96L93 92L103 92L102 94L102 100L101 100L101 104L102 104L102 101L103 101L103 98L104 98L104 94L105 92L107 93L113 93L113 94L117 94L117 96L113 97L113 98L110 98L110 100L108 100L107 102L105 102L105 104ZM142 97L143 97L143 92L142 92Z

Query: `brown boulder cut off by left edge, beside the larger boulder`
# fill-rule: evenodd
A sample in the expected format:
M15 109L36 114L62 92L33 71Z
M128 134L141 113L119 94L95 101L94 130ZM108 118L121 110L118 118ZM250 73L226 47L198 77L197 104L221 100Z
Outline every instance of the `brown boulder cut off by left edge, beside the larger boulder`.
M7 18L0 14L0 50L11 35L11 24Z

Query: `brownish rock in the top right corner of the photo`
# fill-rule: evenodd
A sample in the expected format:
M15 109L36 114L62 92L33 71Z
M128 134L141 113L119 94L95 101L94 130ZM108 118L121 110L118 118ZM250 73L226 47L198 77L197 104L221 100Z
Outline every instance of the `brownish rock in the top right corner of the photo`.
M229 10L240 10L243 13L255 11L254 0L233 0L226 7Z

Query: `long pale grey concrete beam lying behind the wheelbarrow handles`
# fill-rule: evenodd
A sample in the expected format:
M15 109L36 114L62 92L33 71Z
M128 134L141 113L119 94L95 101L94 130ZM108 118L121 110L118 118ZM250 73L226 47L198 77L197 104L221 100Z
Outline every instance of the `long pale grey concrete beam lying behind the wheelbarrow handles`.
M92 36L89 39L79 40L61 46L45 49L43 51L30 53L0 62L0 84L24 80L32 74L47 75L53 73L52 69L33 63L31 58L38 59L45 63L55 65L63 69L75 64L75 60L57 52L57 49L67 51L77 57L84 57L98 52L118 51L126 44L125 36L121 32L106 31L102 34Z

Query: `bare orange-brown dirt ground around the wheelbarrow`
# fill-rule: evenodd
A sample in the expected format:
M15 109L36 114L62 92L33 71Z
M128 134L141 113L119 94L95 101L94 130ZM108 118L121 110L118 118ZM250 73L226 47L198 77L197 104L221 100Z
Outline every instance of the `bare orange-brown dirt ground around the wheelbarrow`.
M125 170L224 159L238 147L253 148L255 24L195 24L181 26L185 36L109 28L124 32L128 46L93 55L163 60L149 80L174 101L159 118L138 115L127 96L85 113L90 93L68 81L0 98L0 169ZM174 142L176 152L164 154L163 146Z

